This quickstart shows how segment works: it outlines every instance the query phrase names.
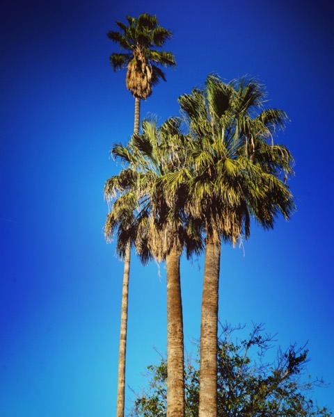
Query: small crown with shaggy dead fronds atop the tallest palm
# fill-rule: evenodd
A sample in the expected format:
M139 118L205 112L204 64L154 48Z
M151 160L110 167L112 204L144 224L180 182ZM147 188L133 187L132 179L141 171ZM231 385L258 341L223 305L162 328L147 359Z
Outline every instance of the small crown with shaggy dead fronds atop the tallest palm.
M152 94L152 85L160 79L166 81L159 66L176 65L171 52L159 51L172 33L159 26L156 16L143 13L135 17L127 16L127 24L116 22L120 32L109 31L108 38L119 44L125 53L113 53L110 56L113 70L127 67L127 89L138 99L146 99Z

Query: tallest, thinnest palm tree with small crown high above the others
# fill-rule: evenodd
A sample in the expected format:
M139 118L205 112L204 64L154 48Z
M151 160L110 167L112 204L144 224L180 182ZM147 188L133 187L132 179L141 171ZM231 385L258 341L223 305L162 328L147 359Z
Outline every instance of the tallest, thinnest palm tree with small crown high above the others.
M134 133L139 133L141 99L152 94L152 85L160 79L166 81L164 72L158 65L174 66L175 57L170 52L159 51L172 33L159 26L157 17L143 13L136 19L127 16L128 26L116 22L120 32L109 31L109 39L119 44L125 53L113 53L110 56L113 70L127 67L127 88L135 98ZM122 313L120 325L120 353L118 361L118 400L117 417L124 416L125 409L125 359L127 347L127 313L130 272L131 245L125 249L125 264L122 284Z

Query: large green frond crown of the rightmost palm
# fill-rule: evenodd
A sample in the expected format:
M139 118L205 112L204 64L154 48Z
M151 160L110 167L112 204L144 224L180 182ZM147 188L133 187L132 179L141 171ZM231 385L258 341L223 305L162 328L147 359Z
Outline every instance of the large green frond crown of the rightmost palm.
M248 238L250 217L272 228L278 213L294 211L285 179L293 158L273 144L283 129L284 111L264 108L267 92L247 76L224 83L210 74L205 88L179 98L196 143L190 152L193 173L189 210L202 218L209 238Z

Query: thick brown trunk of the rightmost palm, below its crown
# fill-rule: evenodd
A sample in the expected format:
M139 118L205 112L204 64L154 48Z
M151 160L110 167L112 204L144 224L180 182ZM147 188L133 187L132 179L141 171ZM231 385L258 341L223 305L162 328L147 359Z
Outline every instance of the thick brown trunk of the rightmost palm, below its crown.
M221 245L208 242L200 324L200 404L199 417L217 416L217 331L218 284Z

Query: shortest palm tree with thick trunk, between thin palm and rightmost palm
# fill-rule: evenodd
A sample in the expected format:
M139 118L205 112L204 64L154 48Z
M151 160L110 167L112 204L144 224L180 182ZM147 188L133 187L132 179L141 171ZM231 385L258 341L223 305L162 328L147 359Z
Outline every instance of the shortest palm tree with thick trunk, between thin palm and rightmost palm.
M125 256L134 243L145 263L152 256L166 261L168 389L167 416L184 416L184 341L180 287L180 255L199 253L202 240L196 224L184 218L184 193L166 193L161 178L178 170L184 158L186 136L180 133L180 120L170 119L159 128L145 120L141 135L134 135L127 147L116 145L113 155L127 167L106 183L106 198L118 188L120 197L106 222L106 237L118 230L118 252ZM177 155L177 158L175 158ZM125 220L124 220L125 219ZM125 223L124 223L125 222ZM197 233L196 233L197 232Z

